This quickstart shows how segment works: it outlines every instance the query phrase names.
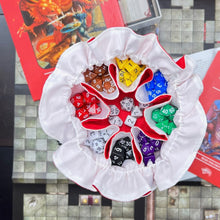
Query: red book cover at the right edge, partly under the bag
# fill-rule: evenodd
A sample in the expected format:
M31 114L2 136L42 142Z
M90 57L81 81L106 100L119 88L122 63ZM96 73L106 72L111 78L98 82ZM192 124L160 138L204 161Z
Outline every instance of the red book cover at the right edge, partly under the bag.
M205 78L200 102L207 116L203 143L189 171L220 187L220 51Z

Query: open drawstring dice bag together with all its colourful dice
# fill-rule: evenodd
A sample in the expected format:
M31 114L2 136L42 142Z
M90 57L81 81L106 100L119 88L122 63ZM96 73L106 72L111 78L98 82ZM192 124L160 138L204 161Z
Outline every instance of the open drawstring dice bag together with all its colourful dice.
M118 201L176 184L205 131L200 78L175 62L154 34L108 28L61 56L43 90L39 119L61 146L69 179Z

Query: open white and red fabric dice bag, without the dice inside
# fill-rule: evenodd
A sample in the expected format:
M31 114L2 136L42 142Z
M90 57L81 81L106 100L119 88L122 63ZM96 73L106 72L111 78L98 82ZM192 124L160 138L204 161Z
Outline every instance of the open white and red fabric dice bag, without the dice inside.
M145 70L131 86L119 81L115 58L131 58L146 65ZM93 66L108 66L116 90L99 92L85 82L83 73ZM198 101L203 85L193 73L194 64L188 56L177 63L165 52L157 36L140 36L129 28L110 28L90 42L80 42L66 50L47 79L39 106L39 119L44 131L62 145L53 155L57 168L70 180L103 196L118 200L138 199L155 190L165 190L176 184L190 167L203 140L206 117ZM168 81L167 94L149 101L145 84L160 70ZM76 108L70 98L83 91L94 95L102 111L85 120L76 117ZM144 104L143 116L133 127L109 123L109 105L120 109L124 122L130 113L121 109L124 97L134 99L134 104ZM154 109L166 104L178 108L170 135L155 126L151 119ZM104 153L97 154L85 146L88 131L112 129ZM164 141L155 163L143 163L137 135L142 131L150 138ZM111 164L110 155L116 141L129 136L135 160L125 160L121 167Z

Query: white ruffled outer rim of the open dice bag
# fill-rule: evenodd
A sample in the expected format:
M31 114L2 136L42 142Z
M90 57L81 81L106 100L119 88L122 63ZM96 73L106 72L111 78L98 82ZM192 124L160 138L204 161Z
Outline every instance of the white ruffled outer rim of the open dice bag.
M110 159L83 146L87 131L69 101L72 87L84 81L83 72L93 65L112 63L115 57L130 57L160 69L168 81L172 104L178 107L173 130L163 143L155 164L147 167L132 160L122 167L111 166ZM156 187L167 189L176 184L191 165L206 130L206 117L198 101L202 83L193 74L193 63L185 56L179 67L160 46L156 35L140 36L129 28L110 28L96 39L80 42L67 49L53 74L45 83L39 106L44 131L62 144L54 153L54 163L70 180L105 197L119 201L138 199Z

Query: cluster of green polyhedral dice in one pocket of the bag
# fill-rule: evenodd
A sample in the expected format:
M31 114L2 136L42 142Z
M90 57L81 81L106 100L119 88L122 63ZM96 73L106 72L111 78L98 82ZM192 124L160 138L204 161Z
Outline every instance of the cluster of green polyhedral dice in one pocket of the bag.
M158 128L170 135L173 129L176 128L176 125L173 122L176 111L176 107L167 104L161 108L154 109L152 111L152 119L156 122Z

